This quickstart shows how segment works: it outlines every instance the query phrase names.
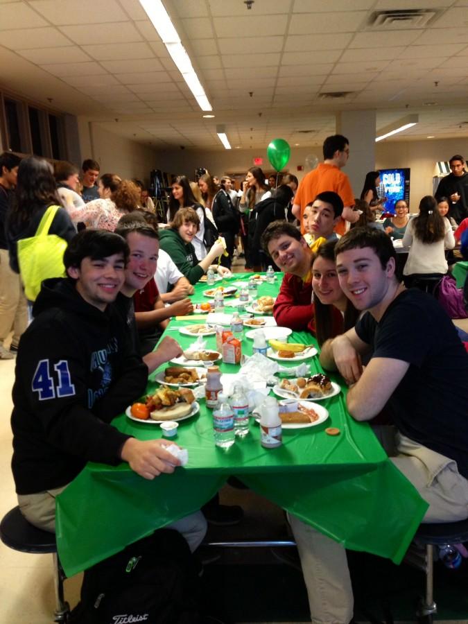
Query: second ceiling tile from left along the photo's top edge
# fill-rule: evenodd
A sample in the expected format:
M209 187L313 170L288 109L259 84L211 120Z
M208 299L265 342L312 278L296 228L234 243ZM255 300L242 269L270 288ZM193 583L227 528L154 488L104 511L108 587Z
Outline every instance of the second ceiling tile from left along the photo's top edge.
M30 0L29 3L52 24L103 24L127 19L116 0Z

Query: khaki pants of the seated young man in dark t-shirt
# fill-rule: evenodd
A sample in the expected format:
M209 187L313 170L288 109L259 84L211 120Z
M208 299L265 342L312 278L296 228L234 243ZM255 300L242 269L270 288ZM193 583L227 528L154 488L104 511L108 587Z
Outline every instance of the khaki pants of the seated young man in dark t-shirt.
M468 517L468 480L456 462L408 437L395 436L397 456L390 458L429 503L424 521L456 522ZM375 496L383 492L375 492ZM348 624L353 593L345 548L288 514L309 595L314 624Z

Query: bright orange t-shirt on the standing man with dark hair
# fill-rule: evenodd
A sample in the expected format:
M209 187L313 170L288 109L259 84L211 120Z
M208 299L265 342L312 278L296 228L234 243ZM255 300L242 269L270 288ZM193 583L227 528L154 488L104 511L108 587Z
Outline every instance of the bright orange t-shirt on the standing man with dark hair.
M301 232L304 234L304 227L302 225L302 216L304 216L304 209L309 205L319 193L323 191L334 191L338 193L343 200L345 206L354 206L354 195L349 183L349 177L336 165L325 164L321 162L317 168L313 169L310 173L305 175L297 189L297 193L294 198L294 203L299 204L301 207ZM342 219L335 227L335 232L338 234L344 234L346 229L345 220ZM341 231L343 230L343 232Z

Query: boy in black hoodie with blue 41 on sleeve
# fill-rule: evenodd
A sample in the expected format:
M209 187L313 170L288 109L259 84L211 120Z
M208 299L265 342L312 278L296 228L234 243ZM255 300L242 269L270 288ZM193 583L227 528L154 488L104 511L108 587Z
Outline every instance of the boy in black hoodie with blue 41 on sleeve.
M136 440L110 426L148 380L148 368L110 305L123 285L128 254L113 232L77 234L64 254L68 277L44 281L35 318L21 338L12 471L21 512L44 530L55 530L55 496L87 461L125 461L146 479L180 465L162 440ZM204 526L189 521L186 529L194 549Z

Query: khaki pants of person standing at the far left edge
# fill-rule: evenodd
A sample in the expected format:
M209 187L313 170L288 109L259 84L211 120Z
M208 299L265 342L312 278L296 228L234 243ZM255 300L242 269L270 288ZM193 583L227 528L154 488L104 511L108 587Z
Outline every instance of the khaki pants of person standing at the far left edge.
M28 305L21 278L10 269L8 250L0 249L0 346L13 330L11 344L18 346L21 333L28 327Z

